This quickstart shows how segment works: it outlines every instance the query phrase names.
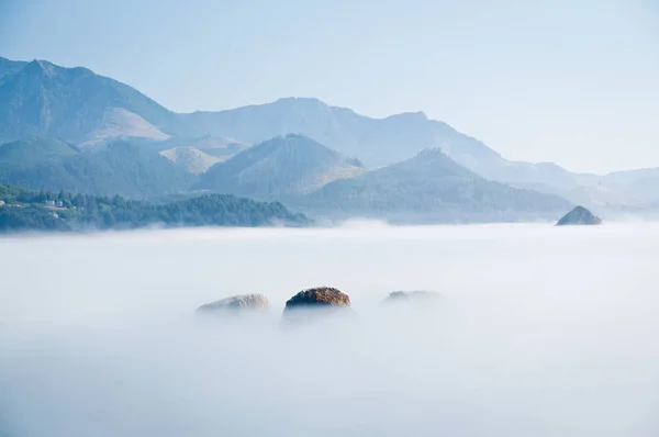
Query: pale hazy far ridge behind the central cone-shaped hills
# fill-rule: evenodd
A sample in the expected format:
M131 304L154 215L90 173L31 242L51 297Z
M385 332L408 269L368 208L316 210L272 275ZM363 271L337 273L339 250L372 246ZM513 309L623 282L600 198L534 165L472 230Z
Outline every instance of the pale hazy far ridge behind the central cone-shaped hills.
M249 143L273 135L300 133L355 156L369 167L394 164L424 148L439 147L456 163L488 179L545 183L561 190L578 186L569 171L555 164L509 161L482 142L446 123L428 120L423 112L371 119L316 99L289 98L268 104L181 116L198 132Z

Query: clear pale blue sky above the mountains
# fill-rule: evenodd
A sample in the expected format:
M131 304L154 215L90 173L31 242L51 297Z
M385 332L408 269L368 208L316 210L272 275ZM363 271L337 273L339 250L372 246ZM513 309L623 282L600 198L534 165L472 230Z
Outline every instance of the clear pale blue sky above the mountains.
M424 111L509 159L659 167L659 0L2 0L0 56L178 112L315 97Z

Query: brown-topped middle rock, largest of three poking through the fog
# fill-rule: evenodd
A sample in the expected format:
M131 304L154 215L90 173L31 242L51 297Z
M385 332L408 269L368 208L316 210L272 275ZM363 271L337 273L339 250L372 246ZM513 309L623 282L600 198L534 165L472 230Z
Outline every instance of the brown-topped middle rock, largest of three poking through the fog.
M288 300L283 309L284 320L308 320L316 314L342 313L350 310L350 296L338 289L319 287L303 290Z

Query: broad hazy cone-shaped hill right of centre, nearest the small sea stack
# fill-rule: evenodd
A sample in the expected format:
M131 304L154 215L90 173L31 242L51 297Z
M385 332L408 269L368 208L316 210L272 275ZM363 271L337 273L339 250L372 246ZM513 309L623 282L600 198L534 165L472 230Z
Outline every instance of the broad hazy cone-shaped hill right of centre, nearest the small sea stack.
M555 195L485 180L439 149L334 181L289 203L320 214L445 222L554 218L571 208Z

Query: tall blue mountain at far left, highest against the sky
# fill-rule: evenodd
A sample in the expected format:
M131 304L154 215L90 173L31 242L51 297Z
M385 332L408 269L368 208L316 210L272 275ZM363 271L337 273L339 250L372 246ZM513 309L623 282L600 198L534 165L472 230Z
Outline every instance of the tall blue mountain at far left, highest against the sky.
M107 130L107 116L115 110L136 114L137 124L142 119L166 133L180 130L177 114L129 86L86 68L33 60L0 82L0 141L38 135L85 142ZM125 116L122 126L131 128ZM122 130L119 134L127 136Z

